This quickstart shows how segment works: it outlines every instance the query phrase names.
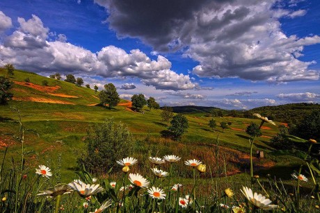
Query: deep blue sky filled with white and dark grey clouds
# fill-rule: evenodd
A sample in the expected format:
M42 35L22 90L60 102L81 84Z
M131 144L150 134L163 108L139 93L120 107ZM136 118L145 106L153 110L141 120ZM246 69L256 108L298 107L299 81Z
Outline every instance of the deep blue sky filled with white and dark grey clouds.
M0 66L160 105L320 103L319 24L318 0L1 0Z

